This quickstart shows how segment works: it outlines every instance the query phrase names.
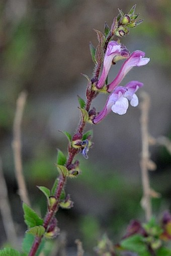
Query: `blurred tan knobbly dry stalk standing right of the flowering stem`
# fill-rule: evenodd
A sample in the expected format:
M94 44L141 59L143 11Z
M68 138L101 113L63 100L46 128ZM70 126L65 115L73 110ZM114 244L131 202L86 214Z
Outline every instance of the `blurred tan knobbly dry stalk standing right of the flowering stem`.
M141 177L142 177L142 188L143 188L143 197L141 200L141 205L145 211L145 218L148 221L152 215L151 209L151 190L148 177L148 165L150 162L149 159L149 140L148 140L148 112L150 99L146 93L141 94L143 102L141 103L141 138L142 138L142 153L141 153Z

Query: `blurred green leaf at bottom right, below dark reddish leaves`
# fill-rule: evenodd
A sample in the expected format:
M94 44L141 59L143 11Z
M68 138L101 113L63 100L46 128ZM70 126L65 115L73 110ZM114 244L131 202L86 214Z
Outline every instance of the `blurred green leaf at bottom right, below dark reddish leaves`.
M150 256L147 251L147 246L143 241L143 237L139 234L129 236L122 240L121 246L126 250L138 252L139 256Z

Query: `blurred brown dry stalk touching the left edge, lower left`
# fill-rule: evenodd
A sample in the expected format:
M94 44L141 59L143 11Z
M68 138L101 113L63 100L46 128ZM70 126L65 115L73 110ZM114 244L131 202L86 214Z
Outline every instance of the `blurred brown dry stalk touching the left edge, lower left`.
M3 174L2 160L0 157L0 211L2 215L2 220L4 224L4 229L7 235L8 242L16 244L17 234L15 231L15 226L12 218L10 202L8 198L8 190L6 181Z

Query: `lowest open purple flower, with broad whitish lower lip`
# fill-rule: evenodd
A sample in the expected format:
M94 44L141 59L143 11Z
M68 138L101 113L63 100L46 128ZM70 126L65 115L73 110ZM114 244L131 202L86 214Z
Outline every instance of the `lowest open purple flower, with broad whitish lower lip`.
M125 87L116 87L108 97L103 110L94 118L93 123L99 123L111 111L119 115L124 115L128 109L128 100L131 106L136 107L138 105L138 97L135 95L135 92L142 86L142 82L130 81Z

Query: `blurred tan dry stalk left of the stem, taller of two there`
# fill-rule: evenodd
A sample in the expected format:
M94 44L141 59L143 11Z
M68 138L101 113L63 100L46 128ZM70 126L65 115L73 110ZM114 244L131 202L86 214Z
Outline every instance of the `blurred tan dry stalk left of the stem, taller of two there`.
M19 187L19 195L23 202L30 205L27 188L23 176L22 157L21 157L21 121L23 117L24 106L26 103L27 94L22 92L17 99L17 107L13 125L13 153L15 162L15 174Z

